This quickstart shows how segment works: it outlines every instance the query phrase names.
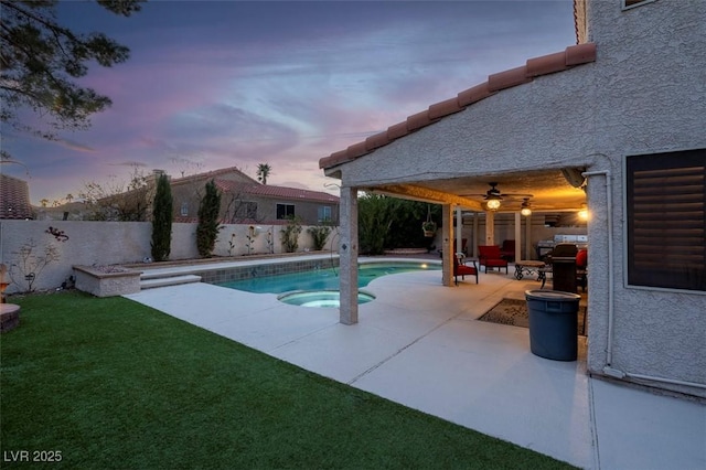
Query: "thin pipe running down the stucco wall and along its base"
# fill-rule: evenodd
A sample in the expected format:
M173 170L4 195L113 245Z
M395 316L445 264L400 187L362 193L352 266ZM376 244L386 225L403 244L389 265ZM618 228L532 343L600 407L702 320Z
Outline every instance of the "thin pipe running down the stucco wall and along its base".
M612 197L612 184L611 183L611 174L610 171L587 171L581 173L584 178L603 175L606 177L606 204L608 206L607 216L608 216L608 345L606 348L606 365L603 366L603 374L614 377L614 378L637 378L643 381L652 381L652 382L663 382L667 384L674 385L683 385L695 388L705 388L706 384L699 384L696 382L686 382L686 381L677 381L665 377L655 377L652 375L643 375L643 374L632 374L629 372L621 371L619 368L614 368L612 366L613 361L613 339L614 339L614 287L613 287L613 245L611 243L613 236L613 197Z

